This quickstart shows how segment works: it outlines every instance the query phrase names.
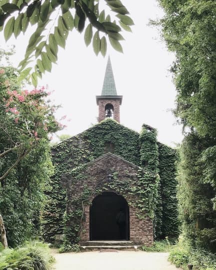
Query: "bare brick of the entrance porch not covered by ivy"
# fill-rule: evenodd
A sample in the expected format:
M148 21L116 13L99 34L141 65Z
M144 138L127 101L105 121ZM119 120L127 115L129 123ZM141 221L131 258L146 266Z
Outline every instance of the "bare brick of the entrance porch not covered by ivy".
M87 167L84 169L84 174L87 175L86 179L79 179L76 182L73 179L67 178L67 213L71 213L73 210L73 205L70 203L73 197L80 197L83 188L85 185L92 190L92 194L89 198L88 203L84 205L84 215L82 220L82 230L80 233L80 242L84 243L89 241L89 211L90 203L93 198L98 195L93 190L96 186L103 186L107 181L107 175L111 171L118 173L118 180L124 181L127 177L133 178L135 181L138 181L137 178L137 169L138 167L132 163L123 160L120 157L116 157L110 153L103 155L100 158L95 159L92 162L89 162ZM127 173L125 173L127 171ZM69 177L69 176L67 176ZM112 179L114 181L114 179ZM106 191L117 192L117 190L108 189ZM153 225L152 220L149 217L139 219L137 217L138 210L131 206L132 202L136 201L136 197L131 194L128 194L127 191L123 191L122 195L128 205L129 205L129 239L134 242L134 244L153 244ZM72 226L72 222L67 223L68 226Z

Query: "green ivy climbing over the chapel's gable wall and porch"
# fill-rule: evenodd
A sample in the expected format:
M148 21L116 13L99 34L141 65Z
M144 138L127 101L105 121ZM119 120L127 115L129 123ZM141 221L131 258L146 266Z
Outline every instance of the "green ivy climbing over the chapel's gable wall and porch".
M98 184L93 194L96 195L106 191L107 187L116 190L125 198L128 194L134 194L137 199L132 203L139 209L139 218L143 218L144 215L148 215L151 218L154 217L155 208L158 204L158 145L156 143L156 131L147 132L145 129L146 127L143 127L143 131L139 136L137 132L118 124L114 120L106 119L77 136L68 138L52 147L52 160L55 172L50 182L51 190L46 192L48 203L45 205L42 213L42 232L46 241L58 241L56 236L63 232L66 239L64 244L76 243L78 241L78 234L81 228L80 220L83 213L82 203L90 203L89 197L90 194L92 196L92 190L89 190L87 186L83 186L80 197L67 198L65 188L62 187L65 186L65 183L62 182L62 174L69 174L73 181L85 179L86 175L83 172L85 164L108 151L123 157L137 166L141 165L142 168L140 168L137 175L138 181L134 185L133 177L125 172L125 179L122 182L118 179L117 173L113 171L114 181L103 186ZM173 180L175 174L170 174L175 170L173 161L175 151L167 146L165 146L165 149L168 155L166 156L166 153L164 153L164 156L161 155L161 160L166 160L165 165L167 165L166 173L163 174L163 177L169 176L167 181L170 181L170 186L165 189L165 192L172 193L175 190L174 183L176 182ZM148 151L149 153L145 153ZM142 156L141 163L140 156ZM171 170L170 174L168 172L169 169ZM70 202L73 204L74 211L67 211L64 215L67 199L70 199ZM164 214L168 215L169 211L174 211L173 215L176 216L176 200L173 200L173 205L171 201L168 204L171 210L167 207ZM161 207L160 205L160 211ZM71 224L71 220L73 220L72 226L66 225L64 228L64 223ZM173 224L169 224L168 228L172 237L178 234L176 221ZM169 235L168 231L166 235Z

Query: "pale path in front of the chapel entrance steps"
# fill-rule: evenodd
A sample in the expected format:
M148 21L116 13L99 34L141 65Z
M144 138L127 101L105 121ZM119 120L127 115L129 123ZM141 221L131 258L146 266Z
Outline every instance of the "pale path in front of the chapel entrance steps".
M174 270L168 253L143 251L88 251L53 253L56 270Z

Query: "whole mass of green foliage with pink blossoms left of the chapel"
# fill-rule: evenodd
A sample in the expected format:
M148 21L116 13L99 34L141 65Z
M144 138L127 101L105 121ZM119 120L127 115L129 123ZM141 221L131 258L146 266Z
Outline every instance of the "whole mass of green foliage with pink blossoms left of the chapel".
M0 67L0 213L12 247L38 233L52 173L48 133L59 129L47 93L21 90L17 74Z

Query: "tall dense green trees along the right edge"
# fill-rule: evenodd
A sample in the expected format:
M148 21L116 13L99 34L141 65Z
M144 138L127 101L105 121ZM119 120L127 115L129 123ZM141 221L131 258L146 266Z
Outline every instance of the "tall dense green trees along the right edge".
M163 38L176 55L174 112L188 131L178 169L183 230L192 246L215 252L216 2L158 2L165 11L159 21Z

